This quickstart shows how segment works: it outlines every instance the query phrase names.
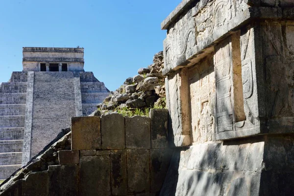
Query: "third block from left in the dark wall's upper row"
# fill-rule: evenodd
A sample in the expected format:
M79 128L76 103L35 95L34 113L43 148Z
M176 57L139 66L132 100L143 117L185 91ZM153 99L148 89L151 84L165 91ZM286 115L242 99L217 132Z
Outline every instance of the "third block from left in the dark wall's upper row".
M125 118L125 147L128 149L150 148L150 118L142 116Z

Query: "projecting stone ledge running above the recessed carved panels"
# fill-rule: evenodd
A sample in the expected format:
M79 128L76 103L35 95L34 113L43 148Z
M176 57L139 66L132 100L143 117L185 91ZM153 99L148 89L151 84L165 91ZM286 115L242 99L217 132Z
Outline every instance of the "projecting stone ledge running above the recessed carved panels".
M195 14L196 12L193 11ZM164 75L181 69L183 67L190 67L198 63L201 59L214 51L214 46L217 45L222 39L228 37L236 30L238 31L241 26L256 20L294 20L294 7L281 8L281 7L248 7L227 24L215 29L211 36L204 37L201 43L198 43L191 52L192 55L185 56L178 59L173 65L167 66L163 69ZM164 41L165 45L166 40ZM166 48L164 46L164 48Z

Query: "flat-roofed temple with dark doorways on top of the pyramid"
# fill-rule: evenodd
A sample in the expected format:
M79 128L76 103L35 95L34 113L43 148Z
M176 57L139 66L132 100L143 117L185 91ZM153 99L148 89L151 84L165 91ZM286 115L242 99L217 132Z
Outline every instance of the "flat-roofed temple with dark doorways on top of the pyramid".
M84 72L84 49L23 47L23 71Z

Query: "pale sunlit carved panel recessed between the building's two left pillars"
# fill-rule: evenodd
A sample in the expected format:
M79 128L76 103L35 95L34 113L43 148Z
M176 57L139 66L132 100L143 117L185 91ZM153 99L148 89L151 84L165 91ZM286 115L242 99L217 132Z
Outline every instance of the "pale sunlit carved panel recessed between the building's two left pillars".
M214 68L207 57L189 69L193 144L215 140Z

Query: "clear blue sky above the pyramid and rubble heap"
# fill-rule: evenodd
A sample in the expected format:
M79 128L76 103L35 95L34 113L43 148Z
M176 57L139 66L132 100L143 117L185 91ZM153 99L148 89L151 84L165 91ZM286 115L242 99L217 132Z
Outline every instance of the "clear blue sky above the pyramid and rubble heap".
M85 71L109 90L152 63L160 23L181 0L2 0L0 82L22 71L22 47L83 47Z

